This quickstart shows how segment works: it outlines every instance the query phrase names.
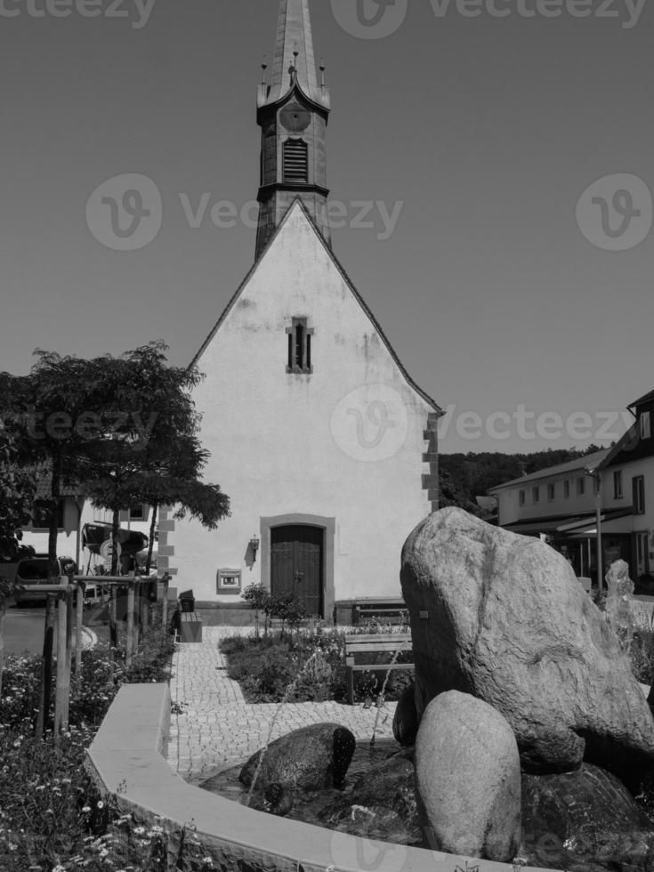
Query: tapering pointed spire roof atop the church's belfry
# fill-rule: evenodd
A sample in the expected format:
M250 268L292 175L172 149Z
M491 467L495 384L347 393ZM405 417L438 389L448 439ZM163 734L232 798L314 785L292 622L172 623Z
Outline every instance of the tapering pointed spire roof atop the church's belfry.
M281 100L295 84L294 79L307 97L328 108L327 89L316 77L309 0L281 0L279 4L270 88L259 105Z

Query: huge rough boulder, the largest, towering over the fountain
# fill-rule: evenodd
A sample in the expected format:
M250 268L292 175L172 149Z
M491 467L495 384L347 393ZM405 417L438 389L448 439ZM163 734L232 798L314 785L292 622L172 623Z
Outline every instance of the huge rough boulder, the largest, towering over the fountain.
M511 724L526 771L585 759L637 786L654 763L654 720L561 554L447 508L408 537L401 583L418 714L444 690L471 693Z

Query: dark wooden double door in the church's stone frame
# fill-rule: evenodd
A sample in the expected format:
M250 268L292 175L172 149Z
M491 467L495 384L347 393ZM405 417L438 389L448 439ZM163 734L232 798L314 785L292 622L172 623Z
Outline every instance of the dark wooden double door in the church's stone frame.
M320 616L323 532L305 524L270 530L270 592L294 593L310 615Z

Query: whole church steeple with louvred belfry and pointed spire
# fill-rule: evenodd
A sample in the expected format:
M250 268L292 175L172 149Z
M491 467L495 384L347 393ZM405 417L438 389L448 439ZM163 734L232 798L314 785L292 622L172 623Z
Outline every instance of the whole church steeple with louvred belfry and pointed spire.
M300 197L330 244L327 218L325 134L329 92L316 77L309 0L280 0L277 43L270 85L257 94L257 124L262 128L261 182L256 257Z

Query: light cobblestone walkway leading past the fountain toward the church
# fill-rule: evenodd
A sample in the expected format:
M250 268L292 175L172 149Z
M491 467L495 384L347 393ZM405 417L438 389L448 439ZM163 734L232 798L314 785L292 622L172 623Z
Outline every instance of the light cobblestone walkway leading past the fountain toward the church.
M246 703L238 682L227 677L218 642L226 635L251 632L248 627L206 626L201 643L179 644L173 658L170 692L182 714L171 716L168 763L182 778L198 781L242 763L265 745L277 703ZM174 706L175 708L176 706ZM395 703L379 715L375 735L392 738ZM279 713L272 739L298 727L336 721L357 739L369 741L377 709L335 702L287 703Z

